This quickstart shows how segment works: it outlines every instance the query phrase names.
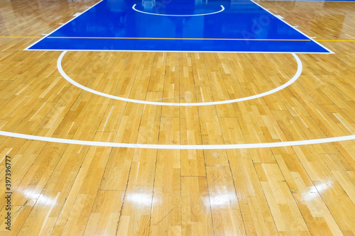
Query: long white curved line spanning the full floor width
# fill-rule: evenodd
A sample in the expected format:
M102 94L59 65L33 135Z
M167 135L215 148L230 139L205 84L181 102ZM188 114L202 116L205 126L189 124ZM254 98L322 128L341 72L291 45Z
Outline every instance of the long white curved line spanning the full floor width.
M263 142L263 143L249 143L249 144L235 144L235 145L150 145L150 144L136 144L136 143L119 143L119 142L96 142L85 140L69 140L58 137L42 137L35 135L25 135L21 133L12 133L0 130L0 135L7 137L18 137L26 140L38 140L44 142L58 142L72 145L89 145L99 147L129 147L129 148L148 148L148 149L170 149L170 150L222 150L222 149L249 149L249 148L264 148L264 147L288 147L298 145L314 145L327 142L340 142L347 140L355 140L355 135L347 135L341 137L326 137L315 140L299 140L288 142Z

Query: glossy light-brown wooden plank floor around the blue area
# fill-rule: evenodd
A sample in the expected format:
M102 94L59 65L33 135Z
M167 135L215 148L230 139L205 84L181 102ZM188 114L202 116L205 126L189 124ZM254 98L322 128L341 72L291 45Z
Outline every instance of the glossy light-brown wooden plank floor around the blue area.
M23 51L94 3L0 2L1 131L154 145L355 134L355 2L258 1L335 54L300 54L302 74L287 88L215 106L98 96L63 79L61 52ZM62 68L106 94L187 103L275 89L297 62L290 54L67 52ZM0 160L0 235L355 235L354 140L156 150L0 136Z

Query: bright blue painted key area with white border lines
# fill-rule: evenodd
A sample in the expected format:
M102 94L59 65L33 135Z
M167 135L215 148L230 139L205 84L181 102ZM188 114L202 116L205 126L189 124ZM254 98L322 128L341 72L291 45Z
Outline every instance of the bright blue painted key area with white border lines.
M245 0L103 0L26 50L330 52Z

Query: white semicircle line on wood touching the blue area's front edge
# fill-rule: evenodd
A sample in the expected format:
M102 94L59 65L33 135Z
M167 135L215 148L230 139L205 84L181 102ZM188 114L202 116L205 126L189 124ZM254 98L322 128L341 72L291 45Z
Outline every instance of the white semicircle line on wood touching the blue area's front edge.
M96 91L94 89L89 89L86 86L83 86L82 84L79 84L77 82L75 82L73 79L71 79L69 76L67 76L67 74L65 74L64 70L62 69L62 58L64 57L65 53L67 51L64 51L60 54L60 56L58 57L58 61L57 61L57 67L58 67L58 71L60 72L60 74L62 75L62 77L64 79L66 79L68 82L70 82L70 84L77 86L78 88L84 90L84 91L88 91L89 93L92 94L97 94L99 96L104 96L107 97L109 99L115 99L115 100L120 100L120 101L128 101L131 103L141 103L141 104L147 104L147 105L158 105L158 106L210 106L210 105L219 105L219 104L227 104L227 103L235 103L235 102L239 102L239 101L248 101L251 99L258 99L261 98L263 96L266 95L270 95L273 94L277 91L280 91L281 89L285 89L285 87L289 86L290 84L293 84L293 82L295 82L298 77L300 77L301 73L302 73L302 62L300 60L299 57L297 57L297 55L295 55L295 53L292 53L293 57L295 57L295 60L297 62L297 72L296 74L293 76L292 79L290 79L287 83L278 86L275 89L272 89L270 91L266 91L262 94L256 94L253 96L246 96L244 98L241 99L231 99L231 100L226 100L226 101L211 101L211 102L202 102L202 103L165 103L165 102L157 102L157 101L141 101L141 100L136 100L136 99L126 99L126 98L122 98L119 96L114 96L111 94L105 94L102 93L100 91Z

